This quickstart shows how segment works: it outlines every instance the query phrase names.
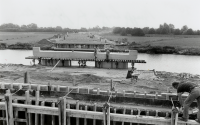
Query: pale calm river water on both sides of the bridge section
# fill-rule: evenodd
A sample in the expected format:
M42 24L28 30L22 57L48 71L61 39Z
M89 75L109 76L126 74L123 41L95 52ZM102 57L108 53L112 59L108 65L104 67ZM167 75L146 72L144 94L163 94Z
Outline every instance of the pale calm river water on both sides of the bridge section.
M25 57L32 56L32 50L0 50L1 64L23 64L31 65L32 62ZM170 54L138 54L138 60L145 60L147 63L136 63L138 70L167 71L177 73L191 73L200 75L200 56L170 55ZM78 65L77 62L72 62ZM94 66L94 62L87 65ZM131 67L131 65L129 65Z

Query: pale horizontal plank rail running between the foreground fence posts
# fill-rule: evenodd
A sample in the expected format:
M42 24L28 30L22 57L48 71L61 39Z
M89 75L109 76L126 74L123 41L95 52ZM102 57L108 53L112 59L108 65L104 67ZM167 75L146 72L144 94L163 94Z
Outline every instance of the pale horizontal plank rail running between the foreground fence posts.
M51 111L49 114L52 115L52 112L57 112L58 115L58 108L52 108L52 107L42 107L42 106L28 106L23 104L13 104L14 107L20 106L20 107L26 107L28 109L32 109L34 111ZM42 111L41 111L42 110ZM70 117L76 117L76 118L88 118L88 119L103 119L102 112L92 112L92 111L81 111L81 110L74 110L74 109L66 109L66 112ZM36 112L39 114L39 112ZM165 119L164 117L154 117L154 116L135 116L135 115L123 115L123 114L114 114L110 113L110 119L113 121L124 121L124 122L133 122L133 123L143 123L143 124L160 124L160 125L170 125L170 119ZM194 122L194 120L190 120L187 122L188 124L198 125L197 122ZM179 125L179 121L178 121Z

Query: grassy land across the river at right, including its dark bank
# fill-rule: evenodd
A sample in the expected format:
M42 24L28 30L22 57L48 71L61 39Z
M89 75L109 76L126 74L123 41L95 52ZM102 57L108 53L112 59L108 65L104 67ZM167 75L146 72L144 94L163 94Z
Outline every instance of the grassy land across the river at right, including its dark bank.
M126 38L129 45L118 47L119 49L136 49L141 53L200 55L200 36L197 35L146 35L144 37L112 33L101 35L112 41Z

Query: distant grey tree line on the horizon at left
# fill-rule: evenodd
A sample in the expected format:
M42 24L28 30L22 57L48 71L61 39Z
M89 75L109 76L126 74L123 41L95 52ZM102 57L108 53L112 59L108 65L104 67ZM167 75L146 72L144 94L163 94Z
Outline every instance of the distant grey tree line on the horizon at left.
M0 25L0 31L4 32L87 32L86 28L81 29L70 29L62 28L61 26L56 27L38 27L37 24L31 23L28 25L17 25L12 23Z

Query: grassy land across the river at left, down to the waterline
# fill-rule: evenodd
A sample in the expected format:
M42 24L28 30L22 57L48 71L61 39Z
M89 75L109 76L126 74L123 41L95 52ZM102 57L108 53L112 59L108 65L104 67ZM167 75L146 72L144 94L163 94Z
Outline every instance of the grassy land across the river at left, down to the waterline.
M32 49L42 39L53 37L54 32L0 32L0 49ZM50 45L51 46L51 45ZM46 48L50 46L46 45ZM44 47L45 48L45 47Z

